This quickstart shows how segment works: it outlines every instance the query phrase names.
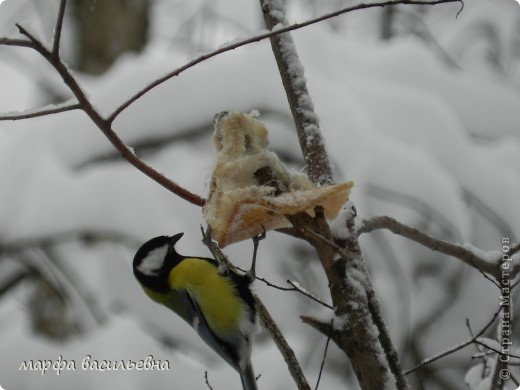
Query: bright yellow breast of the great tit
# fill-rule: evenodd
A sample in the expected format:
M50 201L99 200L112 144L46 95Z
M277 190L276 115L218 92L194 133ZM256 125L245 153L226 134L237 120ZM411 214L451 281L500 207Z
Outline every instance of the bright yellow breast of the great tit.
M172 289L190 293L216 333L239 326L245 308L231 280L220 275L215 265L204 259L186 258L171 270L168 282Z

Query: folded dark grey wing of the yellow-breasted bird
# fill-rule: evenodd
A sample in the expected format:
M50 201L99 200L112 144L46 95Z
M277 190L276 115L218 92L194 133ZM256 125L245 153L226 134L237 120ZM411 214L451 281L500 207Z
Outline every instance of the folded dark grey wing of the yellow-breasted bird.
M187 291L170 291L170 303L175 312L190 324L204 342L217 352L231 367L240 371L238 356L229 342L220 339L209 327L199 305Z

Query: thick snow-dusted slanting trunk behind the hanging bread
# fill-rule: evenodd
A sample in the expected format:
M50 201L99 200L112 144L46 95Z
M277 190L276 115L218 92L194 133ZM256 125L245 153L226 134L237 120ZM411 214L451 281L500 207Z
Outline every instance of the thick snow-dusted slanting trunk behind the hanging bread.
M286 24L281 2L260 0L260 3L268 28ZM332 170L294 42L285 33L271 38L271 46L293 113L309 178L318 185L332 184ZM348 321L340 321L341 325L331 334L332 340L350 358L362 388L396 386L400 390L409 389L382 320L357 235L352 234L355 232L355 212L349 213L345 220L345 228L351 232L346 238L333 236L322 207L316 207L314 212L314 218L306 213L286 217L317 251L327 275L335 315L348 318Z

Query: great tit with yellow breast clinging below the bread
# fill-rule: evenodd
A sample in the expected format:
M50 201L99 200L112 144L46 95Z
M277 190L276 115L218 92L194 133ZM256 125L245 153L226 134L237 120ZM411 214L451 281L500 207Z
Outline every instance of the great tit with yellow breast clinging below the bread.
M256 310L250 285L258 241L251 271L239 275L215 259L178 254L175 244L183 235L143 244L134 257L134 275L151 299L181 316L238 371L244 390L256 390L251 365Z

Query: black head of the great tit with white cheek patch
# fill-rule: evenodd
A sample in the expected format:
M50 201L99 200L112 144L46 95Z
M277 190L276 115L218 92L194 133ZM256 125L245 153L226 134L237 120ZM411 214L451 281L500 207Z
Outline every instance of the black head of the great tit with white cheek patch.
M175 251L175 244L183 235L155 237L139 248L134 256L133 269L143 287L156 292L169 290L168 275L183 258Z

